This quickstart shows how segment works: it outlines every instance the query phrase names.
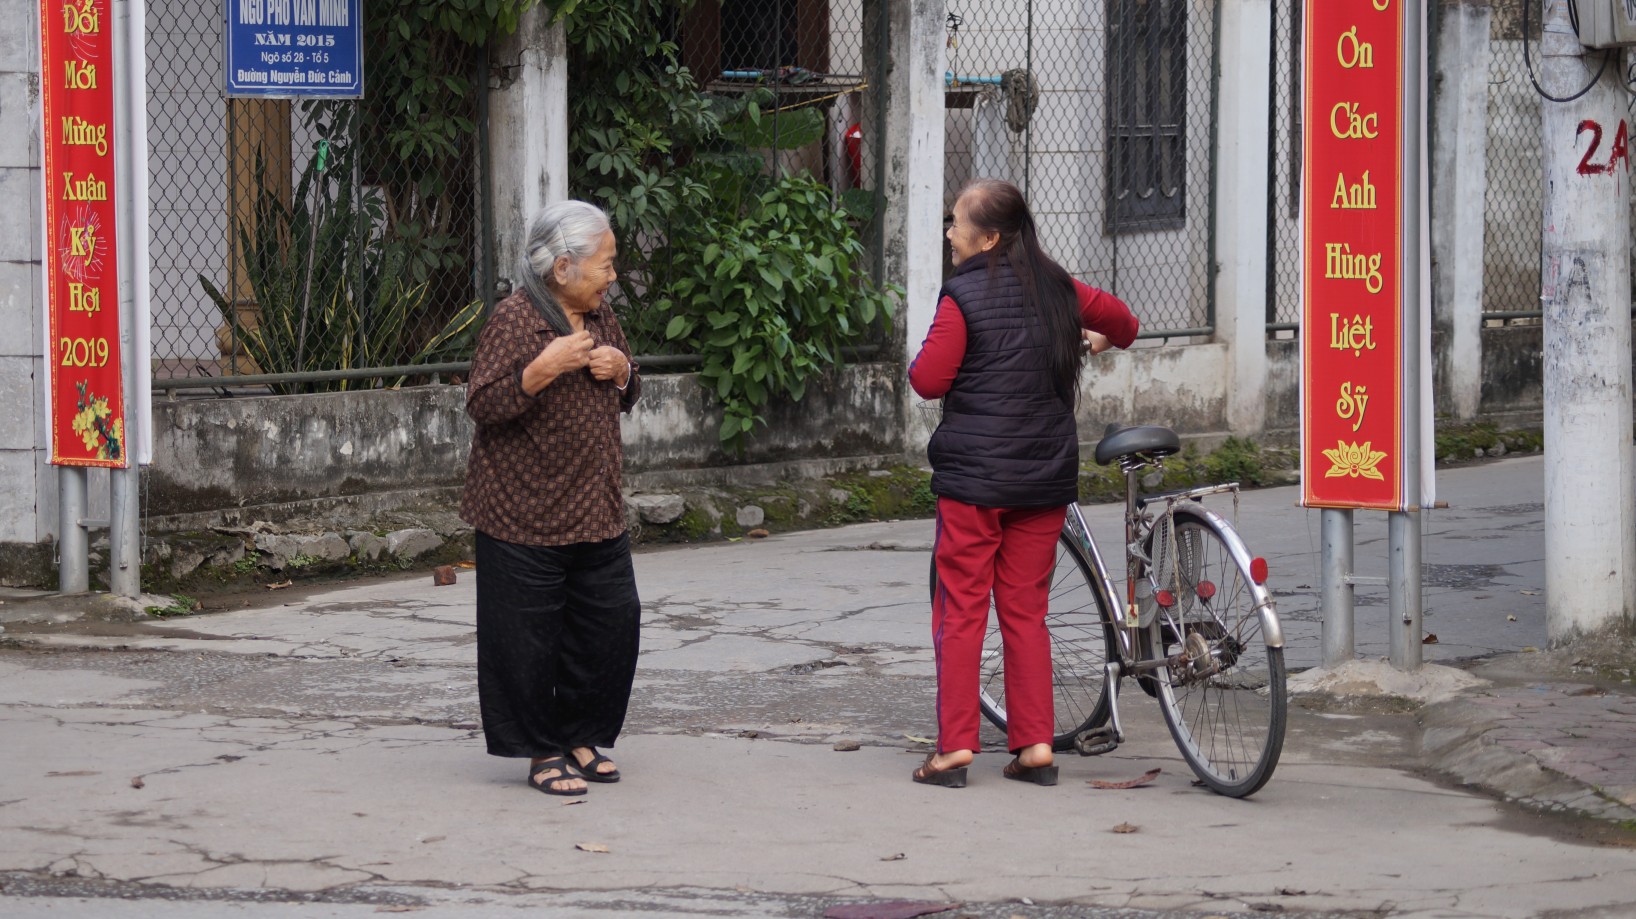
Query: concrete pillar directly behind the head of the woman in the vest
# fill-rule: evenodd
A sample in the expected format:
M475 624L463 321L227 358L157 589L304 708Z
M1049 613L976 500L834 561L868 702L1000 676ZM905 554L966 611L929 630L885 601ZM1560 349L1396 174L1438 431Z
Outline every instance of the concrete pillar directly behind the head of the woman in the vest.
M872 83L883 90L883 118L869 118L885 126L885 280L903 286L900 312L905 342L905 366L926 340L931 317L937 309L942 286L942 170L944 170L944 3L942 0L885 2L865 0L865 31L879 25L885 8L888 47L885 78ZM865 49L879 47L865 36ZM877 70L880 56L865 51L865 67ZM865 164L864 172L870 172ZM867 180L865 180L867 182ZM919 397L903 384L906 401L905 450L919 455L926 448L936 419L919 412Z

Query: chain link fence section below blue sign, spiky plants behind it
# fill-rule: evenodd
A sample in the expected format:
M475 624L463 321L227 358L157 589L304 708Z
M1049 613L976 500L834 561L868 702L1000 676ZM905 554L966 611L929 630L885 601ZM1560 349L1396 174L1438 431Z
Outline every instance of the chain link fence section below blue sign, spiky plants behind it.
M381 386L455 355L483 306L478 132L406 155L378 103L227 98L222 29L204 0L149 16L155 389Z

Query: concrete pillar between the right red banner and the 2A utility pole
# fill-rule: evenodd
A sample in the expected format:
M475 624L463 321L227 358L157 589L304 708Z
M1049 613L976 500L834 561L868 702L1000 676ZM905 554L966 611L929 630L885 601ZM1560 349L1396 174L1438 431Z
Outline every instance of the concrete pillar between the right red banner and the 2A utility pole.
M1436 410L1474 419L1482 401L1482 244L1489 170L1490 0L1441 11L1432 124L1432 348Z

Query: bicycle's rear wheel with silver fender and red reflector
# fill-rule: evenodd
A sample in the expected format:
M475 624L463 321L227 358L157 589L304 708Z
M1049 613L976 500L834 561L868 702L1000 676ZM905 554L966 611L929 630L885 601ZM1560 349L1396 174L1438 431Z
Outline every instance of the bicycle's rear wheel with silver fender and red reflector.
M1153 672L1165 724L1204 785L1253 795L1273 777L1288 715L1284 649L1261 618L1271 597L1232 527L1196 504L1158 517L1148 558L1153 641L1171 659Z

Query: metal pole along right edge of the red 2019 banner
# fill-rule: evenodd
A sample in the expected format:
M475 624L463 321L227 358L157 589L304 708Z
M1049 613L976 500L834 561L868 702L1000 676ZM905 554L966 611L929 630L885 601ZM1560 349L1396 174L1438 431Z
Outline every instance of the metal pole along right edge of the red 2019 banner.
M142 592L142 530L141 530L141 482L142 466L136 461L134 445L141 442L141 425L149 424L141 417L142 401L137 397L136 374L137 361L147 363L147 355L136 348L136 278L133 276L133 240L137 222L131 201L137 177L133 168L134 144L131 124L137 118L133 101L134 85L131 80L133 41L133 0L115 0L115 186L119 188L119 203L115 221L118 224L118 265L119 270L119 361L124 378L124 468L108 469L110 479L110 527L108 527L108 589L121 597L136 597ZM141 18L134 20L141 28ZM141 227L147 232L146 224Z

